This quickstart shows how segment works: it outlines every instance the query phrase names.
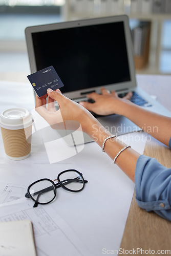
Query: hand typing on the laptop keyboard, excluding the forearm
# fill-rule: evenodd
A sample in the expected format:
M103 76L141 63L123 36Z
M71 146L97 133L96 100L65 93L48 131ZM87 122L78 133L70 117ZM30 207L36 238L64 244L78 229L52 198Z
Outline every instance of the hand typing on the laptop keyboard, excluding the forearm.
M123 98L119 98L115 91L110 93L110 91L105 88L101 88L101 94L91 93L87 95L87 98L95 101L94 103L81 101L79 104L97 115L122 115L122 109L125 103L131 99L132 95L132 92L129 92Z

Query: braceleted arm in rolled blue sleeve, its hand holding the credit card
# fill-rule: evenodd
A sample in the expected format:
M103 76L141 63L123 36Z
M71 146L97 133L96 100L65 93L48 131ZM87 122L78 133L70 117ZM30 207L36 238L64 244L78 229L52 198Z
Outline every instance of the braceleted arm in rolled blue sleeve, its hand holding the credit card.
M46 98L48 97L48 104ZM111 136L89 111L80 104L63 96L60 91L54 92L48 89L48 95L38 98L36 96L35 110L52 125L61 129L66 124L73 125L73 121L81 124L82 131L86 132L101 147L103 141ZM54 108L54 100L59 104L59 110ZM63 123L63 125L61 125ZM68 127L70 128L70 127ZM117 153L125 146L118 138L111 138L104 144L104 151L114 159ZM126 148L116 159L116 164L123 172L135 181L136 200L140 207L147 211L154 210L158 215L167 220L171 213L171 169L159 164L155 159L140 156L132 148Z

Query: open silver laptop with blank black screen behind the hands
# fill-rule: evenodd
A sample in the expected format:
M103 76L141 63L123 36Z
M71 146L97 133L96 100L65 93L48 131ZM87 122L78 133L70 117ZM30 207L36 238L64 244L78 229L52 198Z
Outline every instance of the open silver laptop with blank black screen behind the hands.
M132 91L132 101L164 114L165 109L137 88L129 18L126 15L100 17L25 30L31 73L53 66L62 80L61 92L77 102L100 88L115 90L119 96ZM112 134L141 129L119 116L96 116ZM92 139L84 134L84 142ZM79 140L77 141L79 144Z

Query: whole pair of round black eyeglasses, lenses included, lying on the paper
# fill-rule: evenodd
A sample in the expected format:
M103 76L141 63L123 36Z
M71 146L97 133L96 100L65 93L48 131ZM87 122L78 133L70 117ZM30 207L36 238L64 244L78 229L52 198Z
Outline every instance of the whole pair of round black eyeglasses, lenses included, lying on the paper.
M58 181L58 183L54 183ZM81 173L78 170L70 169L64 170L58 174L57 179L41 179L33 182L27 189L26 198L31 198L37 207L38 204L48 204L56 197L56 189L62 187L71 192L79 192L84 188L85 183Z

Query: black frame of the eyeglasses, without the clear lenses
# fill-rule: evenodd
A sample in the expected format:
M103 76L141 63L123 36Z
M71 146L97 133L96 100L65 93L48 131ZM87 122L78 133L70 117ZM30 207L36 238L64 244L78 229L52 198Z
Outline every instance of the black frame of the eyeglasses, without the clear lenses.
M60 181L60 175L62 175L62 174L64 174L64 173L68 173L68 172L75 172L75 173L79 174L79 176L81 177L81 179L82 179L82 181L83 181L83 186L82 186L80 189L78 189L78 190L72 190L72 189L67 188L65 185L62 184L63 181L62 181L62 182ZM30 187L32 187L34 184L36 184L36 183L38 183L38 182L40 182L40 181L44 181L44 180L47 180L47 181L49 181L49 182L52 183L52 186L53 186L53 189L54 189L54 197L53 197L52 200L50 200L49 202L41 203L41 202L38 202L36 199L34 199L34 198L31 196L31 194L30 194L29 191L30 191ZM58 181L58 183L55 184L54 181ZM75 169L63 170L63 172L61 172L61 173L58 174L57 179L55 179L55 180L50 180L50 179L48 179L48 178L44 178L44 179L37 180L37 181L33 182L32 184L30 184L30 185L28 186L27 193L26 193L25 197L26 197L26 198L31 198L31 199L35 202L35 204L34 204L33 207L37 207L37 204L49 204L49 203L51 203L51 202L55 199L55 197L56 197L56 189L59 188L59 187L62 187L63 189L68 190L68 191L70 191L70 192L79 192L79 191L81 191L81 190L84 188L84 185L85 185L85 183L87 183L87 182L88 182L88 180L84 180L82 174L81 174L80 172L78 172L78 170L75 170ZM50 188L50 187L49 187L49 188ZM44 189L48 189L48 188L44 188ZM44 189L42 189L42 190L44 190ZM38 192L40 192L40 191L38 191ZM38 193L38 192L37 192L37 193Z

